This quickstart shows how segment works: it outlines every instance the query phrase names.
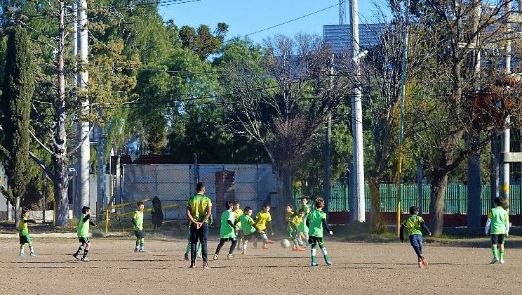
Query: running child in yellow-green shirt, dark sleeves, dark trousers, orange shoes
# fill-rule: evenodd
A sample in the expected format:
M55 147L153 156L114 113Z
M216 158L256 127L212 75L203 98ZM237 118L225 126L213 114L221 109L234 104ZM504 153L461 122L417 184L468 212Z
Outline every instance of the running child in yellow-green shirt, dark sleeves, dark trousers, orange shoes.
M424 231L426 231L428 235L431 235L431 232L429 231L429 228L426 226L426 223L424 223L422 217L418 216L417 214L419 214L419 209L417 208L417 206L410 206L410 216L401 223L401 230L399 236L401 238L401 242L404 242L404 228L408 230L408 237L410 237L411 247L413 247L413 250L415 250L415 254L417 254L417 263L419 265L419 268L422 268L422 266L428 266L428 261L426 258L424 258L422 254L421 228L424 229Z

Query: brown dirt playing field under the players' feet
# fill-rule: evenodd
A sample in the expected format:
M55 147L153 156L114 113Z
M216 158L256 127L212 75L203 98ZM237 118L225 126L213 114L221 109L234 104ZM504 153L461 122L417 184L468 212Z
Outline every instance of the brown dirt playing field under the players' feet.
M418 269L406 242L345 243L327 240L330 267L309 266L309 251L249 249L211 269L189 269L186 242L147 240L148 253L134 253L133 240L92 240L84 263L71 254L76 240L34 239L37 258L18 257L18 239L0 241L0 294L521 294L522 249L509 248L504 265L488 265L490 249L425 244L428 269ZM209 243L211 259L217 240ZM26 249L27 251L27 249Z

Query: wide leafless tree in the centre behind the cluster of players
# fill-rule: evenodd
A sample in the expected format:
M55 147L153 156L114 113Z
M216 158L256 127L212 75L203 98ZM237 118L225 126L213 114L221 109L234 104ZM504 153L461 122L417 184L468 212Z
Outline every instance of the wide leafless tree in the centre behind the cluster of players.
M278 213L293 203L293 169L309 150L351 84L330 74L332 59L321 39L298 34L265 44L261 65L246 59L224 67L222 94L227 126L265 148L276 172ZM315 157L316 155L312 155ZM283 216L283 214L278 214Z

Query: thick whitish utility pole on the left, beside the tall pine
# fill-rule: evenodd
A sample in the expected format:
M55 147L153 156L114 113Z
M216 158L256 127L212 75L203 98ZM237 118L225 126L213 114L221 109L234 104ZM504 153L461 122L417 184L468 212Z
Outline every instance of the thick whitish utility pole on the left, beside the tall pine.
M80 65L78 72L78 90L82 91L81 97L81 112L83 114L89 111L89 100L88 96L85 95L84 91L87 90L87 84L89 81L89 73L86 70L88 64L88 27L87 27L87 0L76 0L76 22L78 24L77 29L77 41L78 41L78 54L80 56ZM88 206L89 204L89 168L91 165L91 147L89 140L89 122L83 121L80 117L79 122L79 133L78 140L81 143L79 148L79 161L78 161L78 202L76 202L76 209L81 209L82 206Z

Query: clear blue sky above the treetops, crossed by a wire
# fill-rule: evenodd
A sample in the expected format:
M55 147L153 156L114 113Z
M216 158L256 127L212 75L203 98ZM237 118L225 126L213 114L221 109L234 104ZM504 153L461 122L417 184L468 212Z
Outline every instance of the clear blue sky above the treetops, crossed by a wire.
M382 0L377 0L382 1ZM244 36L281 22L299 18L314 11L338 4L339 0L201 0L170 6L160 6L159 13L164 20L173 19L178 26L201 24L215 28L217 22L229 25L227 39ZM349 0L345 2L347 22L349 22ZM375 4L372 0L359 0L361 22L372 18ZM262 43L262 39L274 34L294 35L298 32L322 34L323 25L339 23L339 6L329 8L306 18L295 20L265 32L252 34L250 39Z

